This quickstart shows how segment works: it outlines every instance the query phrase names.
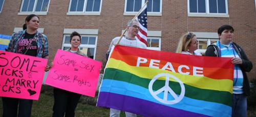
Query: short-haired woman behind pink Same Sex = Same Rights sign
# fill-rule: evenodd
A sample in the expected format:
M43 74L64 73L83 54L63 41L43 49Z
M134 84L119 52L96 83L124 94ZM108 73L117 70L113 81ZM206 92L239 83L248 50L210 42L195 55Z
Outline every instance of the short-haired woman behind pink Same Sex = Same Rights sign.
M70 43L71 48L69 48L68 52L78 54L81 56L86 56L79 49L79 45L81 44L81 35L77 32L73 32L70 35ZM87 57L87 56L86 56ZM51 64L53 66L53 62ZM70 92L67 90L54 88L54 106L53 106L53 117L61 116L75 116L75 109L81 97L80 94L75 92Z

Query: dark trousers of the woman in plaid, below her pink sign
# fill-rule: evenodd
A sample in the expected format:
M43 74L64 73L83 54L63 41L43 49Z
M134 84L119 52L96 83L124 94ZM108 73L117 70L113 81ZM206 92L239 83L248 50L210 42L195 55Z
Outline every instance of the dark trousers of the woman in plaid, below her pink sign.
M31 109L33 100L7 98L2 97L3 100L3 117L29 117L31 115Z

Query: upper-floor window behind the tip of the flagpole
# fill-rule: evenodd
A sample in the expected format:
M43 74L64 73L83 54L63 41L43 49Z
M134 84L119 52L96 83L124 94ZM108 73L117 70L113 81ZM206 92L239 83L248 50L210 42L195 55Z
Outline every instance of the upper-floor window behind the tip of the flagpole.
M125 12L138 12L143 7L145 0L125 0ZM149 0L147 12L160 13L162 0Z

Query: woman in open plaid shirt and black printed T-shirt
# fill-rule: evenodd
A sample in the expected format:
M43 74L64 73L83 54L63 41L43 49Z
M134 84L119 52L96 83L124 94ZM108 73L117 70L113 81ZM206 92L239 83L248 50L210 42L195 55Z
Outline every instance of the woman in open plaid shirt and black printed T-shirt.
M46 35L37 31L39 17L28 15L25 19L24 30L12 34L7 51L39 58L49 59L48 40ZM49 71L46 66L45 71ZM3 99L3 116L30 116L33 100L7 98Z

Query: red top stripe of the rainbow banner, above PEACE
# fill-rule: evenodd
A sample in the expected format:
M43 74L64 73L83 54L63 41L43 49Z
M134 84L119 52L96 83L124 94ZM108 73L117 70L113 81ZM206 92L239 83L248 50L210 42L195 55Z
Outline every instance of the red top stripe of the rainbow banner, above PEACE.
M127 51L129 50L129 51ZM202 56L192 56L185 54L178 54L172 52L163 51L152 51L146 49L132 48L129 46L115 46L114 52L120 55L132 55L142 58L150 58L150 60L161 60L161 61L171 61L174 63L182 63L191 66L198 67L215 67L215 68L233 68L231 63L231 58L223 57L202 57ZM182 59L181 59L182 58ZM136 59L137 60L137 59Z

